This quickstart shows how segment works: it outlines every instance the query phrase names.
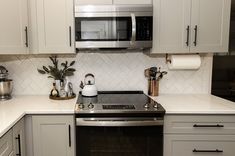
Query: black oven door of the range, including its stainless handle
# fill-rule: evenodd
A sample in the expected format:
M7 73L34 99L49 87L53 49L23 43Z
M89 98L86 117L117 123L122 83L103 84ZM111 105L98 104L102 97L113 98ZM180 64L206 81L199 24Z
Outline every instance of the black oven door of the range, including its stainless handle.
M77 118L77 156L162 156L163 121Z

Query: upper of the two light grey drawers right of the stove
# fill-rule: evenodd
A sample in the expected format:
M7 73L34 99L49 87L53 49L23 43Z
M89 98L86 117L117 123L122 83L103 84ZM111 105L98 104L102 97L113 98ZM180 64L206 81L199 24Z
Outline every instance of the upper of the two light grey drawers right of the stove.
M235 134L233 115L166 115L165 134Z

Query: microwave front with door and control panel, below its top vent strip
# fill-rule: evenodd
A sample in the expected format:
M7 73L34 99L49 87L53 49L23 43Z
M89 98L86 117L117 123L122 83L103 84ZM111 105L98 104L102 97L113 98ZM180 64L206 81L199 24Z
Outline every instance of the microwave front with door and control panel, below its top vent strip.
M135 13L79 14L75 18L76 48L152 46L152 16Z

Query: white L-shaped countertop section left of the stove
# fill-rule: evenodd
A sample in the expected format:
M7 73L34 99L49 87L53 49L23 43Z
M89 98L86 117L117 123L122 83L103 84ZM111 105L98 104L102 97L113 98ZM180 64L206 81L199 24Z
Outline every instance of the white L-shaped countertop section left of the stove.
M48 96L14 96L0 101L0 137L25 114L73 114L76 104L71 100L50 100Z

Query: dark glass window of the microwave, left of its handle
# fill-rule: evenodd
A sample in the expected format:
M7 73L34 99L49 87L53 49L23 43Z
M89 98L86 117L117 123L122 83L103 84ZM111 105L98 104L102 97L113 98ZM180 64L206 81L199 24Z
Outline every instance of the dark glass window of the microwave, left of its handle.
M129 41L130 17L75 18L76 41Z

